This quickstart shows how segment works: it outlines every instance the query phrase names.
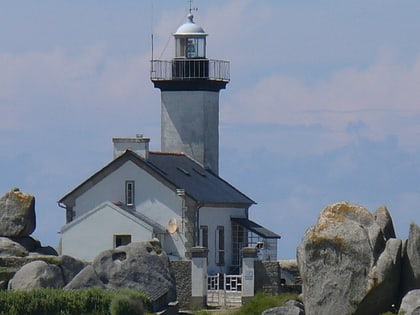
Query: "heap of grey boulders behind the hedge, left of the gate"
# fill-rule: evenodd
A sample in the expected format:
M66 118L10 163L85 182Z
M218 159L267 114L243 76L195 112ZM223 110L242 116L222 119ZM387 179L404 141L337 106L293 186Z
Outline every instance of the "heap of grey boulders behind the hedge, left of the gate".
M0 197L0 289L130 288L156 309L176 301L175 280L159 241L132 243L100 253L92 264L58 256L30 235L35 198L15 188Z

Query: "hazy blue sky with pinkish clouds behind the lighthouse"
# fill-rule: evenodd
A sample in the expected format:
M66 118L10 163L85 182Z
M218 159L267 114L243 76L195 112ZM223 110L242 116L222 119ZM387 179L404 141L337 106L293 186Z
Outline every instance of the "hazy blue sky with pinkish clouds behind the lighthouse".
M0 0L0 194L36 198L43 245L57 200L112 159L112 138L160 150L153 57L171 59L186 0ZM420 223L420 1L195 0L220 94L222 178L295 258L328 204L386 205Z

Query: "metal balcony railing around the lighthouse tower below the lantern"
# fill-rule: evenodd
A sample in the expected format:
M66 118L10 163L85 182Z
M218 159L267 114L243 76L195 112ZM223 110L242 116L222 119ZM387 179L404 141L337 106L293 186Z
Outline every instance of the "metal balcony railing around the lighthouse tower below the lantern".
M210 59L152 60L152 81L206 79L229 82L229 61Z

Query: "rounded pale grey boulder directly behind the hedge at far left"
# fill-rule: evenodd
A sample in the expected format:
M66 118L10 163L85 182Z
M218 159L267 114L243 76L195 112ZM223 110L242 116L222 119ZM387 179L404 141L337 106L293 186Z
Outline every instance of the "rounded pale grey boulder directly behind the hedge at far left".
M62 288L61 269L45 261L36 260L24 265L9 281L10 290L32 290L37 288Z

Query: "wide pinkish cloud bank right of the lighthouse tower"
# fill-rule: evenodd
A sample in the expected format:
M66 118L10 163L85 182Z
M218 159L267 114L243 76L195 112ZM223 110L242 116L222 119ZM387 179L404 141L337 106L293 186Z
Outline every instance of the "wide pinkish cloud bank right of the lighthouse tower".
M236 88L221 119L232 125L317 125L329 131L336 146L356 134L375 140L395 135L404 147L420 149L420 126L413 119L420 115L418 86L420 55L406 66L385 54L366 69L337 70L313 84L277 74L254 87Z

